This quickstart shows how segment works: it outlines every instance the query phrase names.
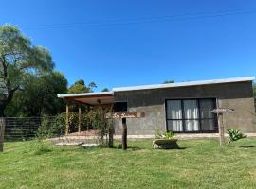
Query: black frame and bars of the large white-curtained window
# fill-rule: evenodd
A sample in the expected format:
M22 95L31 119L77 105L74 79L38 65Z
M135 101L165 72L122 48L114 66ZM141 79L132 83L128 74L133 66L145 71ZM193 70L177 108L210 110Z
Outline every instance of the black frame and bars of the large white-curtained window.
M172 131L174 133L217 133L218 132L218 117L217 115L214 113L213 114L213 118L202 118L201 117L201 105L200 105L200 101L204 100L204 99L210 99L213 101L213 109L216 109L217 107L217 98L215 97L205 97L205 98L172 98L172 99L165 99L165 118L166 118L166 130L167 131ZM182 112L182 119L168 119L168 115L167 115L167 101L171 101L171 100L180 100L181 101L181 112ZM188 119L185 118L185 114L184 114L184 100L196 100L197 103L197 107L198 107L198 118L193 118L193 119ZM199 130L195 130L195 131L186 131L185 129L185 122L187 120L192 120L192 121L198 121L199 122ZM203 130L202 129L202 121L203 120L213 120L214 123L214 130ZM173 131L173 130L169 130L168 129L168 121L182 121L182 129L183 131Z

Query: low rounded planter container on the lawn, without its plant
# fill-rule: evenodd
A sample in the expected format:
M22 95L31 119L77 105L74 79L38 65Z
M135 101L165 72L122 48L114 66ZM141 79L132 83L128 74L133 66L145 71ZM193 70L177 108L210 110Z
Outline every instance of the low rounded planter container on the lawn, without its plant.
M152 146L154 149L179 149L177 139L155 139Z

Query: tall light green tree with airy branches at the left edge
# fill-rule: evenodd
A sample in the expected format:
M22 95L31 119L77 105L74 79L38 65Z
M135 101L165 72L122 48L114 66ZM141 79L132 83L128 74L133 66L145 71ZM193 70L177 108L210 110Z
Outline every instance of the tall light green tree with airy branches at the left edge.
M18 90L25 90L27 77L53 70L54 63L46 48L35 46L18 27L0 26L0 116Z

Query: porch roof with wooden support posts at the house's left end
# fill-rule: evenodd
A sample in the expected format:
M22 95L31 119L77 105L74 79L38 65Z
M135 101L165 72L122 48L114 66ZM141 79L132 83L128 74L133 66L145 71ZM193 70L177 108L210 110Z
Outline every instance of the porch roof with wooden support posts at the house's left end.
M85 104L88 106L101 106L102 108L111 108L114 103L114 92L100 92L100 93L83 93L83 94L58 94L59 98L66 101L76 102L79 105ZM68 134L69 124L69 106L66 104L65 108L65 134ZM79 123L78 131L81 132L81 106L79 106Z

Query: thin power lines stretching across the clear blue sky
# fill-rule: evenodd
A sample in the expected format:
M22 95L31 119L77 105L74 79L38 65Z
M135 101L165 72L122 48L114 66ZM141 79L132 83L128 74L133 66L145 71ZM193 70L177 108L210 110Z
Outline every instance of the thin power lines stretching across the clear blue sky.
M82 22L82 23L66 23L66 24L49 24L49 25L37 25L37 26L23 26L23 28L79 28L79 27L90 27L90 26L129 26L129 25L140 25L140 24L151 24L160 22L172 22L175 20L195 20L195 19L207 19L207 18L218 18L233 15L244 15L254 14L256 9L232 9L232 10L218 10L211 12L199 12L199 13L187 13L172 16L160 16L160 17L141 17L131 19L113 19L96 22Z

